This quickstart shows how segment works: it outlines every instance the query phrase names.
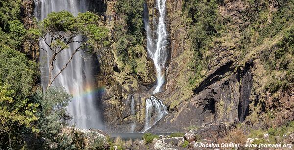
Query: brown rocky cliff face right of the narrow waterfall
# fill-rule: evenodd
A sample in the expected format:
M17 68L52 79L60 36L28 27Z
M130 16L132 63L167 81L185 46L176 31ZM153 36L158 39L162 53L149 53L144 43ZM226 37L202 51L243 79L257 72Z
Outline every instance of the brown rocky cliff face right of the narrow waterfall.
M224 0L218 6L217 12L223 20L230 18L231 21L226 24L226 32L215 39L206 52L209 55L207 69L202 70L204 77L193 87L189 84L193 42L189 38L191 35L182 11L183 4L183 0L167 0L171 57L167 69L166 91L158 94L158 97L168 105L170 113L149 131L178 132L192 125L201 127L234 121L246 121L258 128L257 126L267 127L271 123L278 122L276 125L279 125L293 120L294 107L287 105L294 100L290 92L293 87L290 91L277 92L278 97L275 99L281 102L275 105L278 109L268 107L269 104L272 105L274 98L264 89L266 81L261 81L261 78L269 76L259 72L262 71L261 66L265 66L260 62L260 59L264 59L263 51L275 49L277 41L280 41L283 35L267 39L270 40L267 46L257 44L248 47L248 53L245 53L245 56L240 55L238 50L244 42L244 29L255 23L248 15L254 8L241 0ZM262 7L260 3L254 6ZM272 0L266 7L270 23L273 14L281 9L281 4ZM264 93L269 94L264 96ZM274 113L276 118L269 120L264 113L268 111ZM280 114L279 111L283 113ZM257 121L258 118L262 121Z

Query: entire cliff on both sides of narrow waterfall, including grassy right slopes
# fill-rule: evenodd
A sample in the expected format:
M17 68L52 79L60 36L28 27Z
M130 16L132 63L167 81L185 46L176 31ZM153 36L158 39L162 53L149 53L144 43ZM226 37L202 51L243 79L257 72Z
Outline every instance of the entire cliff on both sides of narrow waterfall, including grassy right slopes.
M275 57L266 51L275 53L278 43L289 30L288 24L283 24L282 29L274 34L270 32L270 36L263 35L264 30L275 22L277 12L287 6L283 6L279 0L264 3L220 1L213 11L217 16L214 21L223 21L221 27L218 28L218 23L212 25L215 35L205 35L211 39L202 46L205 47L202 57L195 58L197 51L193 48L197 41L192 37L197 32L200 34L200 31L192 32L195 26L192 26L188 17L191 14L184 10L189 1L166 1L169 59L166 64L165 90L155 96L163 100L169 108L169 114L149 131L178 132L192 125L201 127L236 121L267 127L269 121L278 125L293 120L293 84L274 92L267 87L274 80L272 76L285 75L287 69L277 69L281 63L278 59L274 60L278 66L273 69L266 68L268 65L265 62ZM154 30L155 26L152 25L155 20L152 18L158 16L155 0L146 2L150 25ZM134 75L128 68L121 69L116 52L115 28L118 24L126 23L117 16L115 3L115 0L107 1L104 15L105 24L112 29L113 43L107 54L101 55L100 61L98 82L100 87L105 88L101 93L102 110L109 131L128 132L134 122L134 131L140 131L144 127L145 100L150 97L155 82L153 62L147 56L143 43L139 47L141 52L138 57L143 60L144 65L140 66L142 71ZM209 4L209 1L204 1L198 7L206 10ZM196 13L201 17L201 12ZM200 17L199 22L203 19ZM192 22L197 22L197 18L192 19ZM293 54L290 55L288 62L293 60ZM195 66L202 68L195 73ZM283 77L279 79L282 81ZM135 117L130 111L131 97L135 100ZM268 112L275 117L270 118Z

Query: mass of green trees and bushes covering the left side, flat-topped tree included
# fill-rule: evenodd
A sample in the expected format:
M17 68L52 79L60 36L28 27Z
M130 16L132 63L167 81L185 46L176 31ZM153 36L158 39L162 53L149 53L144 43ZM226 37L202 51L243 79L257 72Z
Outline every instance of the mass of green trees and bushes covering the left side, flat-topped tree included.
M55 37L52 50L66 49L67 42L73 42L66 41L68 36L79 34L87 38L83 48L96 50L109 46L109 31L98 26L94 13L74 17L66 11L51 13L37 28L27 30L20 16L21 4L21 0L0 1L0 149L84 149L82 133L60 134L71 119L66 113L71 95L62 87L41 90L38 64L22 51L25 42L38 44L45 34ZM105 149L101 139L92 139L93 149Z

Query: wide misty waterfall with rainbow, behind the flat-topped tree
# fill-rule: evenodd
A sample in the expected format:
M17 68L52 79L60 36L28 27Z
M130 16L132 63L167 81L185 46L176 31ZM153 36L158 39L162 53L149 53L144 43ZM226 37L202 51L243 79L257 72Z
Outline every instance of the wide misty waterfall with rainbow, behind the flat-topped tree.
M85 12L89 5L87 0L35 0L35 3L35 12L39 20L45 19L51 12L62 10L67 10L77 16L79 12ZM49 40L50 37L47 37L47 41ZM77 47L79 47L78 43L71 44L68 50L59 54L54 64L53 75L60 71ZM40 50L41 80L43 89L46 89L49 60L52 53L44 40L40 40L40 48L48 52ZM97 99L95 99L95 93L92 92L95 91L95 63L97 60L94 57L80 51L73 56L72 61L52 84L63 86L68 93L73 94L73 99L68 105L68 113L73 117L71 125L76 125L78 128L103 128L97 108Z

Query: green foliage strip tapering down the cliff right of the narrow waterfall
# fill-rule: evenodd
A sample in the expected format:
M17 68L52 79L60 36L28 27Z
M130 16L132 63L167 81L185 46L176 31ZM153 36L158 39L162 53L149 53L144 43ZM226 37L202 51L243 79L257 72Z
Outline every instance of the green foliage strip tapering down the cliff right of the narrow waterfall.
M205 53L210 48L212 39L219 37L224 30L228 20L222 21L218 14L219 0L185 0L183 12L186 14L186 24L189 26L189 39L192 42L194 57L189 68L194 73L189 78L189 83L195 86L204 75L202 70L206 69L207 58Z

